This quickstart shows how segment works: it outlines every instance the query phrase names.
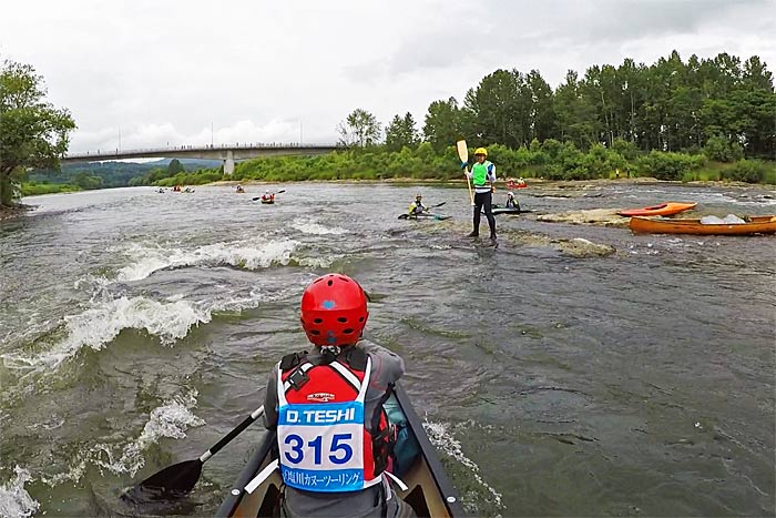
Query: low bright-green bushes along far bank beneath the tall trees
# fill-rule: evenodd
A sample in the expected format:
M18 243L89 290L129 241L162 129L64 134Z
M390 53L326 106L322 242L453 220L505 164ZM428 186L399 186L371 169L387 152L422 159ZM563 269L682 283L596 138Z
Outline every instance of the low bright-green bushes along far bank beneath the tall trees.
M617 142L615 142L616 144ZM731 181L776 184L776 162L741 159L732 162L711 160L704 153L688 154L651 151L623 154L596 144L583 152L573 143L547 140L517 150L494 144L489 160L498 164L499 177L541 177L544 180L593 180L647 176L671 181ZM323 156L278 156L236 164L232 175L219 170L178 173L149 184L197 185L219 180L297 182L328 180L460 180L462 173L452 146L436 153L428 142L416 149L388 151L381 146L335 152Z

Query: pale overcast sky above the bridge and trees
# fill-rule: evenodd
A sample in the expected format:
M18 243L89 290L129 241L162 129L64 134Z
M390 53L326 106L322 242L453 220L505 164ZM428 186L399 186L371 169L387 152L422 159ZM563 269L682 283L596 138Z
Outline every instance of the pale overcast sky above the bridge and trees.
M759 55L776 0L2 0L0 60L31 64L78 124L71 151L334 143L356 108L385 126L497 69L566 70L676 49Z

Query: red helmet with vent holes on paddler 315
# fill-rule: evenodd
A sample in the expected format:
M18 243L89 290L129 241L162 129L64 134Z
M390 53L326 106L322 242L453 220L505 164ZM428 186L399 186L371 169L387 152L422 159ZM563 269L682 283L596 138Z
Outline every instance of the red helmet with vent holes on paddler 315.
M299 321L315 345L355 344L368 316L364 288L347 275L318 277L302 294Z

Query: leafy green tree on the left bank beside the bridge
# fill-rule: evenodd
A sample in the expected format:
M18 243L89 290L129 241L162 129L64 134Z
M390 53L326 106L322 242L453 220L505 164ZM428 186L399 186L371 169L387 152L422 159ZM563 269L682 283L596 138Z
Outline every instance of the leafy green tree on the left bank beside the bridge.
M59 169L75 129L70 112L45 101L43 78L32 65L0 68L0 205L11 205L13 175L29 167Z

